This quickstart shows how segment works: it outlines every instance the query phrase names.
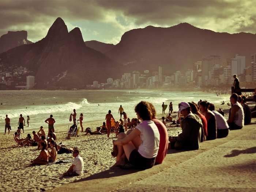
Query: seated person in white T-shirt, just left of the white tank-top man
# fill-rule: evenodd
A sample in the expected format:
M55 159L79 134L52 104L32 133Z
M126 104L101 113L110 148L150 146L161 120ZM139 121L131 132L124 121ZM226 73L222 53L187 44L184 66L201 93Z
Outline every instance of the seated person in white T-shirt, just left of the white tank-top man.
M215 116L217 123L217 138L225 138L229 134L229 125L221 113L215 111L214 104L210 103L208 108Z

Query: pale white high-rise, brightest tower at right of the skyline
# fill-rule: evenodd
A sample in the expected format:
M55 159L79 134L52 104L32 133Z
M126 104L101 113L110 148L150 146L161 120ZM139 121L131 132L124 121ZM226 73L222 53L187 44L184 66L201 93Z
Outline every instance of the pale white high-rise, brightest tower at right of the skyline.
M245 69L245 56L236 54L231 59L231 74L241 75Z

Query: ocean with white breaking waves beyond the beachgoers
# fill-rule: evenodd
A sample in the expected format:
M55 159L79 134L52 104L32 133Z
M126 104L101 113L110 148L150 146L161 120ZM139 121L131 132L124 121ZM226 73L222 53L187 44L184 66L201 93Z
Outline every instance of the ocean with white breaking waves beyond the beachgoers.
M0 132L4 131L5 114L11 120L12 130L18 127L19 114L25 120L30 116L29 128L37 131L50 114L56 120L55 126L71 125L69 115L76 109L77 119L83 113L83 124L90 125L90 121L105 120L108 110L116 120L120 119L118 108L123 106L129 118L136 117L134 108L140 101L153 103L157 113L162 113L162 102L166 105L172 101L173 110L178 110L178 103L198 102L199 99L207 100L214 104L220 104L223 100L229 101L229 95L219 95L206 92L181 92L181 91L157 91L157 90L5 90L0 92ZM33 104L34 103L34 104ZM168 108L166 109L168 113ZM166 115L165 115L166 116ZM100 124L101 125L101 124ZM99 126L100 126L99 125ZM27 122L26 122L27 126ZM25 127L24 129L27 129Z

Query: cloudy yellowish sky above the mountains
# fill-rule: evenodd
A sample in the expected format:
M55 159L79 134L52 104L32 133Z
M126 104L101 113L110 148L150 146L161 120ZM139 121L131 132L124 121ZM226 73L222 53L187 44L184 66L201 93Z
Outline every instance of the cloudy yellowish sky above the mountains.
M170 27L187 22L227 33L256 33L256 0L82 1L1 0L0 36L28 31L28 39L44 38L56 18L72 30L79 27L84 41L117 44L131 29L148 25Z

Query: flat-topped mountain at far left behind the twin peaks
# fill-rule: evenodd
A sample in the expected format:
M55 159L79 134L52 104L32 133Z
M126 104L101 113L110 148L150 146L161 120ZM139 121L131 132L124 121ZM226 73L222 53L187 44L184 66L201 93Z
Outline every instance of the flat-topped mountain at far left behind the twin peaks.
M16 46L31 43L31 41L27 40L27 31L8 31L7 34L0 37L0 53Z

